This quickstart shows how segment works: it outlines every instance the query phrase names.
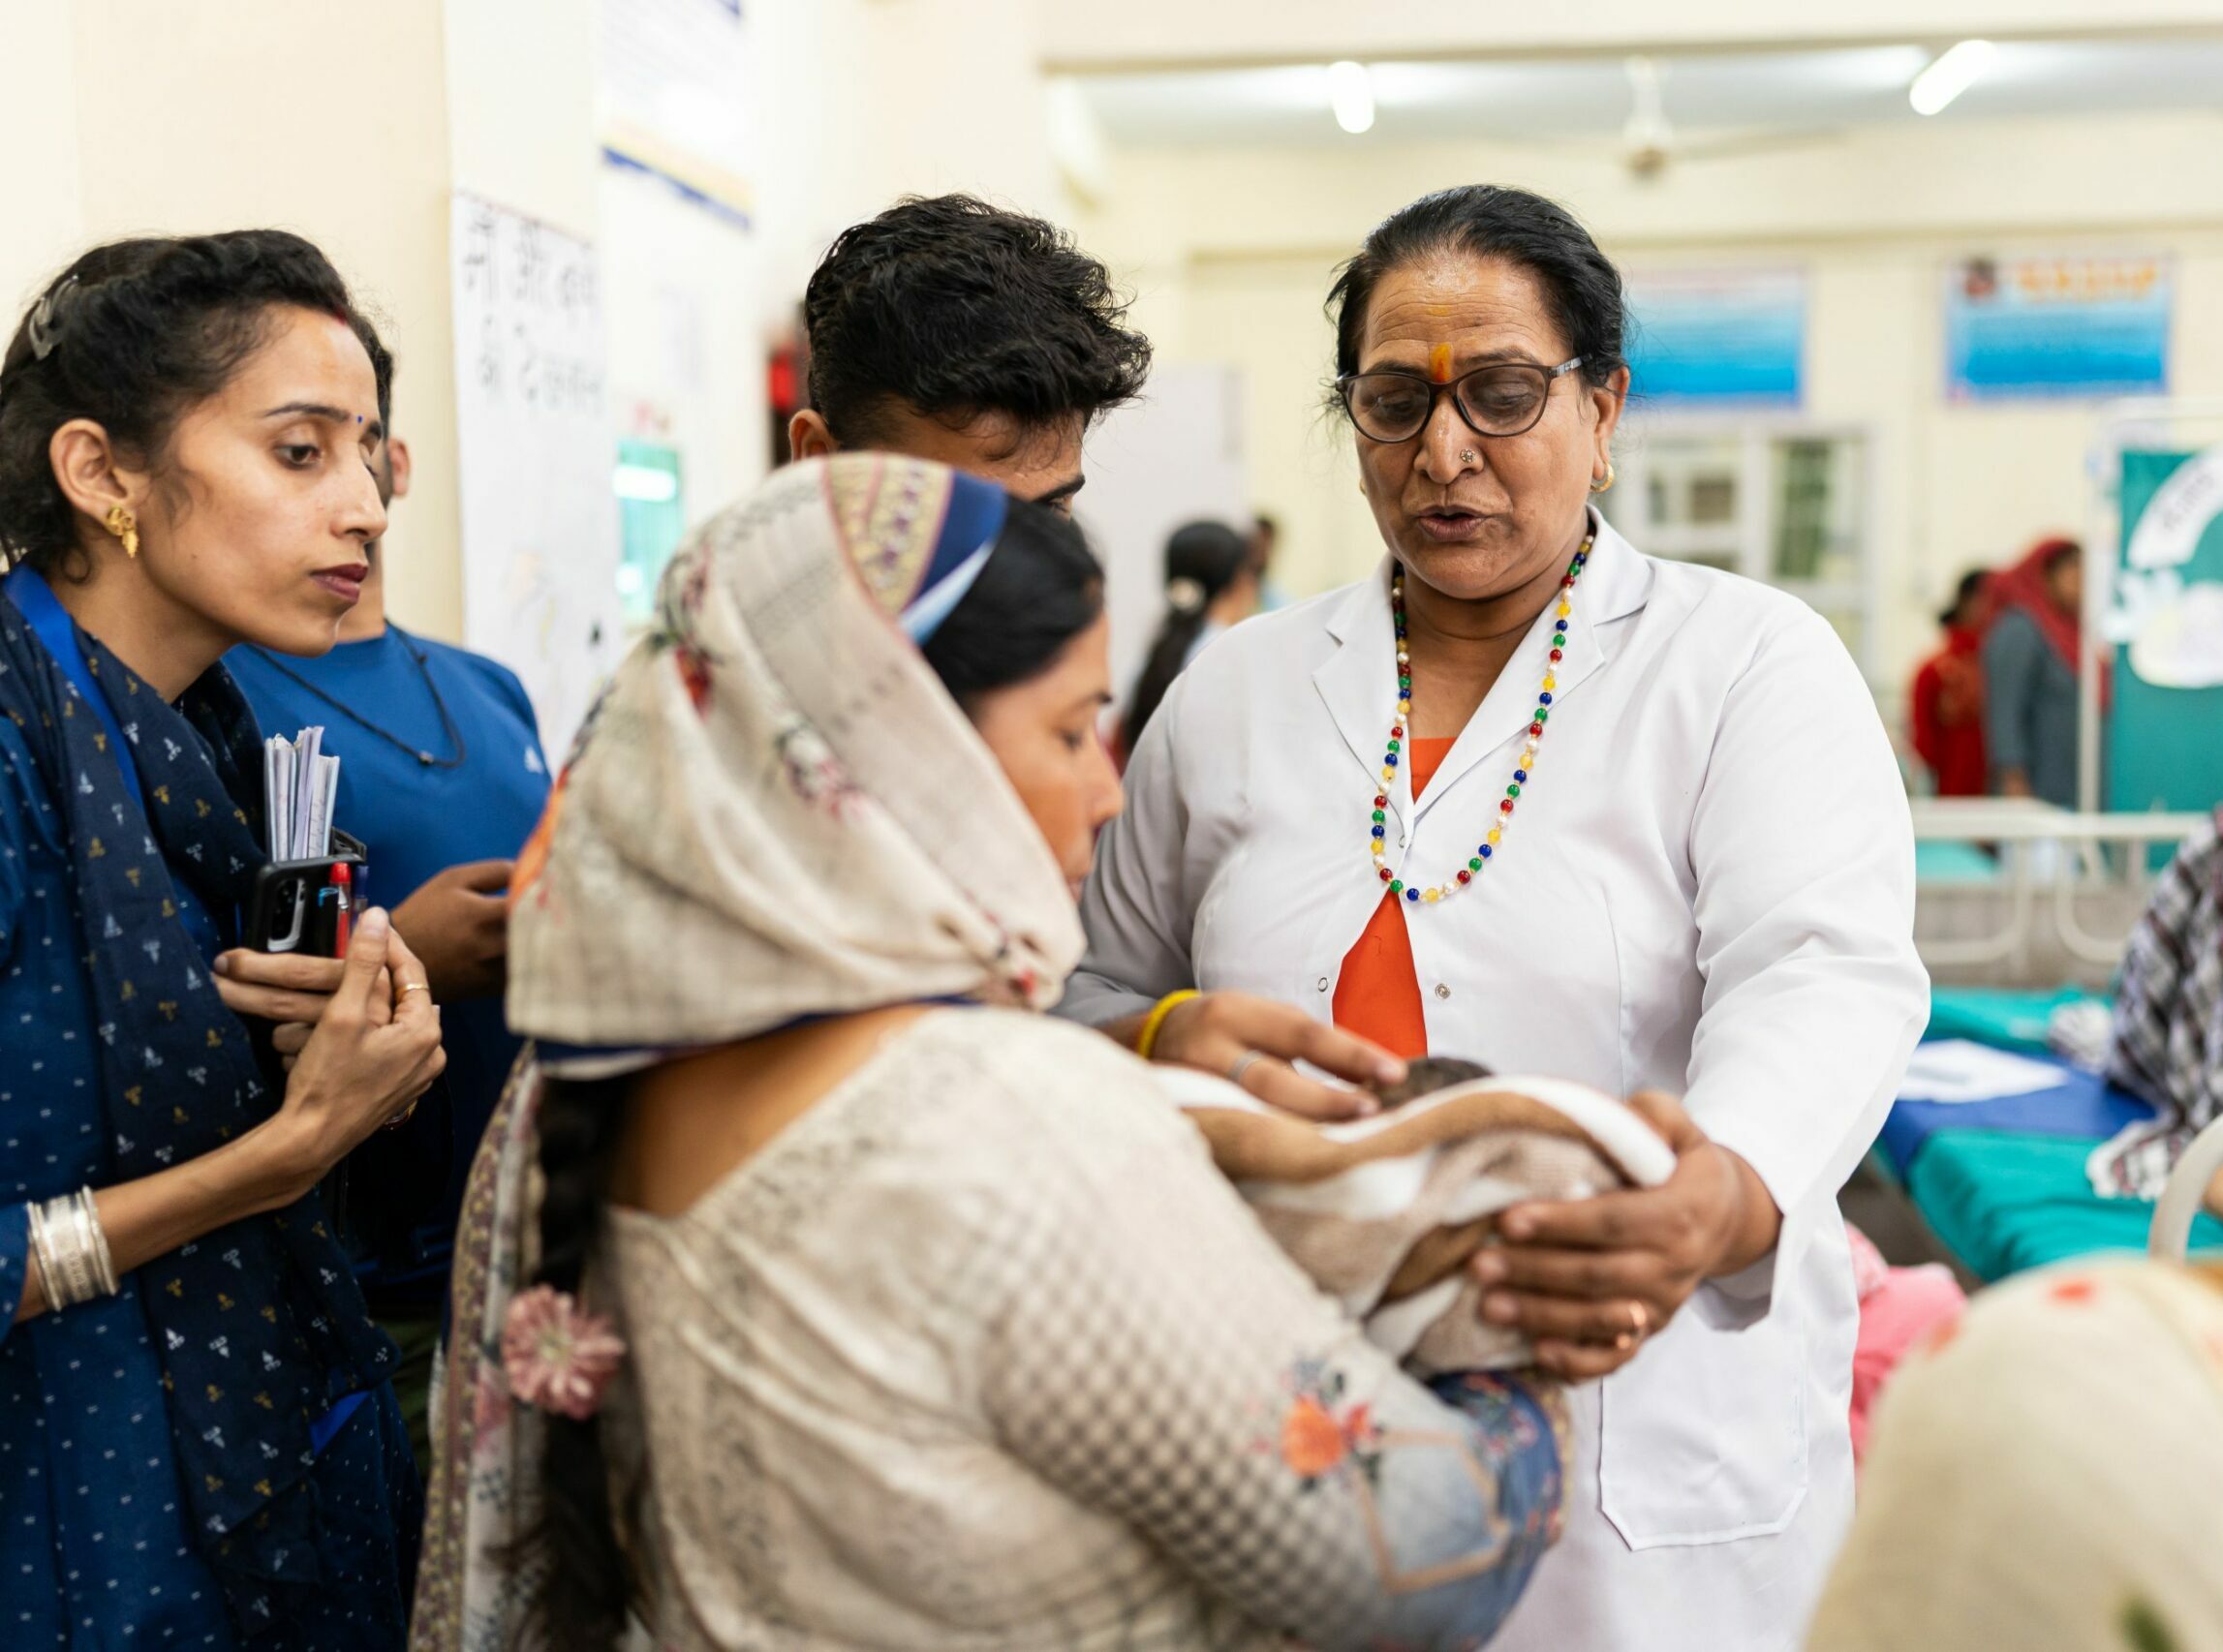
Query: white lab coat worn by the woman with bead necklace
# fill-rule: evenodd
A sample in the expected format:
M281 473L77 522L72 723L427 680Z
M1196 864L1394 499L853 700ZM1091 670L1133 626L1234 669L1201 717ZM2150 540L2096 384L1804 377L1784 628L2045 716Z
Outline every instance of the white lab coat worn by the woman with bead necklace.
M1400 876L1447 880L1496 820L1549 627L1420 805L1389 787ZM1367 827L1394 685L1387 569L1203 654L1134 754L1060 1014L1100 1025L1196 985L1327 1021L1383 898ZM1436 1054L1681 1092L1785 1212L1774 1256L1572 1392L1567 1534L1494 1652L1794 1648L1852 1516L1836 1192L1930 1001L1907 803L1836 634L1601 525L1505 843L1407 925Z

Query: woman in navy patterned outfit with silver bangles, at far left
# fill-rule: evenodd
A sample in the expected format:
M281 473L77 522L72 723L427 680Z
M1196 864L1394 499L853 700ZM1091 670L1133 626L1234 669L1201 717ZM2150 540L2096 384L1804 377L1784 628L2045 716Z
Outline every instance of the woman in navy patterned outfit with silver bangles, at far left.
M438 1012L385 914L345 965L236 949L260 743L216 665L329 647L382 525L349 316L293 236L136 240L0 358L9 1648L400 1643L393 1352L313 1187L438 1074ZM316 1023L289 1074L273 1021ZM113 1278L56 1267L96 1241Z

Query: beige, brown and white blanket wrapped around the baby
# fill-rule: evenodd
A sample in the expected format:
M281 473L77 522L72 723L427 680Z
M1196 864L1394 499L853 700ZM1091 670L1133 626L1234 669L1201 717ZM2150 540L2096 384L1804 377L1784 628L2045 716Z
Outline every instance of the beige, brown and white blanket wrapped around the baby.
M1481 1316L1467 1270L1498 1212L1674 1174L1652 1125L1565 1078L1427 1058L1374 1118L1323 1125L1212 1074L1158 1074L1267 1234L1420 1374L1532 1363L1521 1332Z

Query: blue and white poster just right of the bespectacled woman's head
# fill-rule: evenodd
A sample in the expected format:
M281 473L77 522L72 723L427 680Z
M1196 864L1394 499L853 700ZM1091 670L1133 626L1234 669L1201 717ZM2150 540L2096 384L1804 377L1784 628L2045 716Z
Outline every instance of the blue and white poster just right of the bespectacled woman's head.
M1629 276L1629 391L1654 407L1798 407L1805 273L1661 269Z

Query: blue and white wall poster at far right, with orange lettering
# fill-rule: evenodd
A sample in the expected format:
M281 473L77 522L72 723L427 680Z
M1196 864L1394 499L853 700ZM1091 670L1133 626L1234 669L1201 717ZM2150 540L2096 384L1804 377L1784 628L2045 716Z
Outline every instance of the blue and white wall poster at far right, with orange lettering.
M1947 273L1952 400L2167 389L2167 258L1967 258Z

